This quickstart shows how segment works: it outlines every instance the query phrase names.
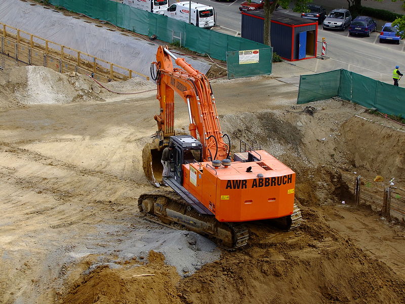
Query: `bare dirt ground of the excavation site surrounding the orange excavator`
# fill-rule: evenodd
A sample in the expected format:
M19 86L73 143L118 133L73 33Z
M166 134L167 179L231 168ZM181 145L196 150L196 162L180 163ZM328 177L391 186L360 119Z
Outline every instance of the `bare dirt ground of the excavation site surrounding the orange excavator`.
M141 158L152 82L105 85L140 92L117 95L42 67L0 73L0 303L405 302L403 224L355 205L341 175L404 188L405 128L344 100L297 105L271 77L244 82L212 81L222 129L233 151L256 140L297 173L303 223L251 222L247 247L227 252L138 211L156 189Z

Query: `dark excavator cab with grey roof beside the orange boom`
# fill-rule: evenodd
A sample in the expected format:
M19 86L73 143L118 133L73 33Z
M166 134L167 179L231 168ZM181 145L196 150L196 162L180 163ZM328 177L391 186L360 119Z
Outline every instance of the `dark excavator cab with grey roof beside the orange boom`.
M182 165L203 161L203 144L191 135L171 136L169 145L174 145L171 160L171 176L178 184L183 183Z

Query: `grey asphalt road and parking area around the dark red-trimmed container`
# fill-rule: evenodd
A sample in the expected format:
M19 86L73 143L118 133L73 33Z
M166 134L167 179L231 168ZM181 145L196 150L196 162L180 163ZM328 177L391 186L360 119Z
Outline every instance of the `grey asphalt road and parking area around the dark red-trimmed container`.
M238 7L243 1L244 0L218 2L216 0L198 0L199 3L204 3L215 8L218 26L215 27L214 30L235 36L240 36L241 14ZM322 1L317 1L316 3L323 4L321 2ZM328 5L326 1L324 2L329 12L330 6L333 4ZM373 5L378 6L381 4L377 3ZM400 13L400 5L397 3L390 5L392 7L385 5L386 9ZM343 7L346 6L347 4ZM284 10L281 8L278 10L297 17L300 16L299 13L294 13L292 10ZM377 30L380 29L382 22L383 21L378 22ZM401 41L399 45L382 44L379 43L378 32L371 33L370 37L350 36L348 30L343 32L323 30L322 26L319 25L318 41L321 40L321 37L325 37L328 43L327 56L329 59L322 60L321 63L319 63L319 60L309 59L295 61L292 64L313 72L344 68L387 83L392 82L391 75L395 65L402 65L405 70L405 60L403 59L405 48L404 41ZM320 43L318 43L318 55L320 55L320 49Z

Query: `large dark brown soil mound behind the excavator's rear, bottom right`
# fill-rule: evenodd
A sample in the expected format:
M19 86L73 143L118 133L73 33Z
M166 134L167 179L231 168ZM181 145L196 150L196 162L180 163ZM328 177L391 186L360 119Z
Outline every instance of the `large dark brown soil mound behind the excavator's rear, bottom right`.
M405 283L303 208L298 232L251 225L250 247L182 280L185 303L402 303Z

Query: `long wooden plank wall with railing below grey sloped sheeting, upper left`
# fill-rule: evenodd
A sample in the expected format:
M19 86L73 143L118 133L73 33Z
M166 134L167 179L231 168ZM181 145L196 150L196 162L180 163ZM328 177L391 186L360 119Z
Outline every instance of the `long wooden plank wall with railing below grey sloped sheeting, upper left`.
M147 75L113 64L87 53L57 44L0 22L0 54L14 66L41 65L61 73L89 74L98 81L128 80L136 75L149 80Z

